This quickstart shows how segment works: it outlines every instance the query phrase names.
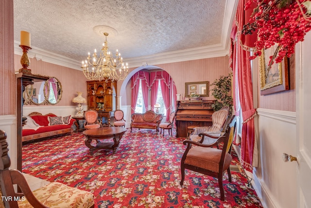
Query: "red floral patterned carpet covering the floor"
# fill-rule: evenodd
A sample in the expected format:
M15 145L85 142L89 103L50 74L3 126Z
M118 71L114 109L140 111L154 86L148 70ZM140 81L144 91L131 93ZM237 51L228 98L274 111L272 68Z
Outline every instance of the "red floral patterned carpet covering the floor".
M95 195L96 208L257 208L255 190L243 173L224 175L225 201L220 200L216 178L186 170L180 182L184 138L156 135L155 130L130 130L115 154L84 144L82 132L25 144L23 172L84 189ZM240 165L233 152L232 165Z

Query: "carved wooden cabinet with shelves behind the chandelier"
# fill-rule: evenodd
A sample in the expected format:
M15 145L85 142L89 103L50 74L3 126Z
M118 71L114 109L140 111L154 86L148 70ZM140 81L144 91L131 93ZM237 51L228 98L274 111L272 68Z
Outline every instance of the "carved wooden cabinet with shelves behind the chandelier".
M111 112L116 110L117 81L86 81L86 83L88 109L97 111L99 117L106 117L108 121Z

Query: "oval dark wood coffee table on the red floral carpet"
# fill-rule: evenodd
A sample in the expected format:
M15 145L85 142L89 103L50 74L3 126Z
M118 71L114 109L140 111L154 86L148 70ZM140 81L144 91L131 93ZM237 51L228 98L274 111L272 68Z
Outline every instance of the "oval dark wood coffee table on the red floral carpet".
M86 147L92 152L97 149L107 149L116 151L120 140L126 129L123 127L101 127L97 129L88 129L82 133L86 135L85 144ZM111 139L113 142L101 142L101 139ZM91 145L92 140L96 140L96 146Z

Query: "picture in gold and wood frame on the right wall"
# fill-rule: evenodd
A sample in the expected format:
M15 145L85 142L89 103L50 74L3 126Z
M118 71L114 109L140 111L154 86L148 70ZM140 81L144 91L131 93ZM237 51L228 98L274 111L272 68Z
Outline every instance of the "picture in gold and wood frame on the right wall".
M259 57L260 95L269 95L289 90L289 58L269 67L270 57L276 53L276 46L264 49Z

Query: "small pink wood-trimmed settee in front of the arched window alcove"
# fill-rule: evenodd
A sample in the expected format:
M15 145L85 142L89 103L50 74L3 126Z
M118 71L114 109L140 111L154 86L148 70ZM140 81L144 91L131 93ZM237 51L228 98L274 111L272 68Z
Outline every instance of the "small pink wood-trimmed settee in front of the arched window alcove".
M159 125L163 119L162 114L156 114L154 111L147 111L146 113L133 113L131 132L133 128L139 129L155 129L158 132Z

